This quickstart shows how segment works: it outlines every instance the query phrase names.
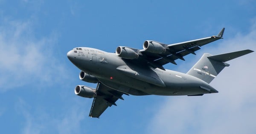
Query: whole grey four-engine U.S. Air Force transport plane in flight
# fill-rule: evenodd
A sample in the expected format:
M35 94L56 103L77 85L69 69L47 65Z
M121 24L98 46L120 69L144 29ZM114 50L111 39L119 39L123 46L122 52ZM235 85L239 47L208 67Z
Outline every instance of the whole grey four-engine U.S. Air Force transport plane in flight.
M116 53L95 48L78 47L67 53L68 59L81 70L80 80L98 83L96 88L78 85L75 94L94 98L90 117L98 117L122 95L187 95L201 96L218 93L209 83L230 66L226 61L251 53L251 50L225 54L203 54L201 59L186 73L165 69L167 63L184 60L184 56L195 54L201 46L222 39L224 28L218 35L165 44L146 40L143 49L118 46Z

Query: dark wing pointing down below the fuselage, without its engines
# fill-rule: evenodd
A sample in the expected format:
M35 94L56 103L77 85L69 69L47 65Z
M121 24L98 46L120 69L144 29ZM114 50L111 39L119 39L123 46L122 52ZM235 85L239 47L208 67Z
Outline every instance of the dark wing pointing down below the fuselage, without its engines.
M93 99L93 104L90 109L89 117L97 117L99 116L112 105L116 105L116 100L122 99L122 92L113 90L103 85L102 83L98 83L96 88L97 97Z

